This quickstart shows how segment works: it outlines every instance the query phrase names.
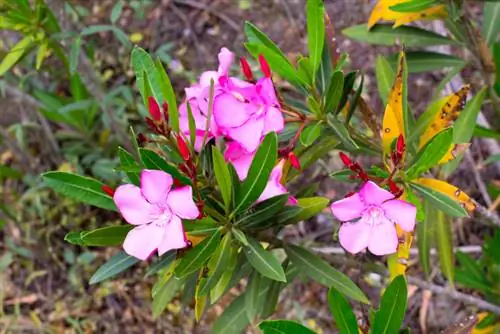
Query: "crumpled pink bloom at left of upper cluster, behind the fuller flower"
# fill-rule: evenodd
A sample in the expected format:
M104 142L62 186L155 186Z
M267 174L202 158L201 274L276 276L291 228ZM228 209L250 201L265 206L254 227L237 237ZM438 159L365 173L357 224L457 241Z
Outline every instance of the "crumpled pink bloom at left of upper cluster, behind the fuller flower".
M222 48L219 52L219 68L217 71L206 71L201 74L198 83L185 89L186 101L179 106L179 127L187 138L189 136L189 118L187 103L191 107L191 112L195 121L196 139L194 148L201 151L203 137L207 128L208 103L210 97L210 82L214 81L214 98L227 90L229 82L235 87L251 86L251 84L238 78L228 77L229 68L233 64L234 54L227 48ZM214 117L211 118L207 139L210 140L219 135Z

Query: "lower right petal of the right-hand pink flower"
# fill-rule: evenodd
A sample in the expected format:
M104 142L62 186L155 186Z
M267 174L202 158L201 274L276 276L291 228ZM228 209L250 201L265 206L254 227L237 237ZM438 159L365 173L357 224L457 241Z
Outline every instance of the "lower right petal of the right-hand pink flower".
M393 254L398 250L398 242L398 233L394 223L385 220L372 228L368 250L379 256Z

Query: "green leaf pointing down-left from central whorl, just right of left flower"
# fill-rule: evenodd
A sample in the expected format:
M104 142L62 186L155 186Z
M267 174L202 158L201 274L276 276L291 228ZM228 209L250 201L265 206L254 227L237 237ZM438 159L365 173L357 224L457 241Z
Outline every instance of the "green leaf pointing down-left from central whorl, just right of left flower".
M175 276L185 277L200 269L217 249L220 243L221 230L219 228L198 245L188 250L175 268Z

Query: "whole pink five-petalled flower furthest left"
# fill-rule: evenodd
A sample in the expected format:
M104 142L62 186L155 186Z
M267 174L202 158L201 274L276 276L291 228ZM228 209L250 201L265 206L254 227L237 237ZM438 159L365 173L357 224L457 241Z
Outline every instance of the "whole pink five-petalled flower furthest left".
M124 184L116 189L113 200L118 210L129 224L137 225L123 243L127 254L146 260L155 250L162 255L187 246L181 219L195 219L199 211L191 187L171 188L169 174L145 169L140 188Z

